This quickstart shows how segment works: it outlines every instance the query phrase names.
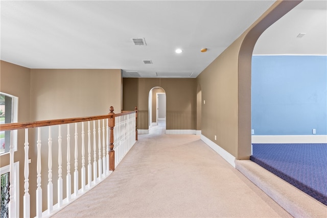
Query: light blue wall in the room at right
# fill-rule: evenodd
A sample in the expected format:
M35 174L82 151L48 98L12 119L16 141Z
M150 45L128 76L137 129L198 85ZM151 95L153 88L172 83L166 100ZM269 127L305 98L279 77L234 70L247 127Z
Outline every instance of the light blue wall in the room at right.
M327 135L327 56L253 56L254 135Z

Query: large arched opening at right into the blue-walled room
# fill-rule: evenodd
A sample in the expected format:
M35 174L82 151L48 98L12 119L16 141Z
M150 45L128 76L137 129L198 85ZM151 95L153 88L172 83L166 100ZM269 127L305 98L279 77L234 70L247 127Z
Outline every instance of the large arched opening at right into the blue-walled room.
M322 1L299 3L255 43L250 156L325 205L326 6ZM278 31L282 28L286 31Z

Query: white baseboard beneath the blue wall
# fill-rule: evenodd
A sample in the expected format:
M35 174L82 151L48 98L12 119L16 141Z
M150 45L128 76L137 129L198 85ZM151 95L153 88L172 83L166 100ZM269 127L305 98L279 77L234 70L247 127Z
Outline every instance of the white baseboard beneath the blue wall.
M327 143L326 135L307 136L252 136L252 143L258 144L282 144L282 143Z

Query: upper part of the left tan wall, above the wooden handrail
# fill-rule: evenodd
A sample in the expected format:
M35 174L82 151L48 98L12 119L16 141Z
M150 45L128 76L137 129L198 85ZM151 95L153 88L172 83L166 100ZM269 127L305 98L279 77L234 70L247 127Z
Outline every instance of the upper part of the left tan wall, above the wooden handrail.
M31 118L47 120L121 112L121 70L31 70Z

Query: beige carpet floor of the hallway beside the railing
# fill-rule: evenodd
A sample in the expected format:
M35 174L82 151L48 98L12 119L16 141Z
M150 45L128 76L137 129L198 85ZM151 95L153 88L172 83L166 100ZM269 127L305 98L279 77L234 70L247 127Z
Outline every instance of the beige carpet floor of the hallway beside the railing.
M196 135L151 128L111 175L53 217L291 217Z

